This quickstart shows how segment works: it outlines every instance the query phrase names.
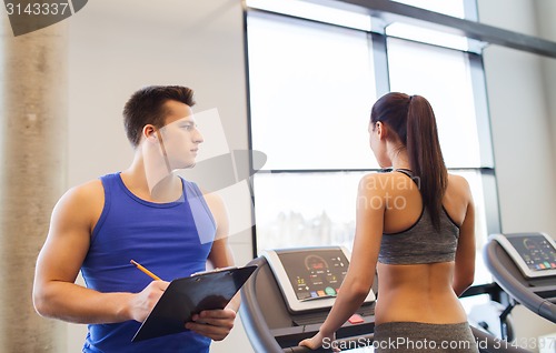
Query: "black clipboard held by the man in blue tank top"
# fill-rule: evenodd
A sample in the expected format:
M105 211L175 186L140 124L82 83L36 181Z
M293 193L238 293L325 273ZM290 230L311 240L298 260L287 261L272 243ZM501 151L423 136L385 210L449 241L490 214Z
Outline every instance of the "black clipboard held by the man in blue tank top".
M219 269L171 281L131 342L189 331L186 322L193 314L226 307L256 269Z

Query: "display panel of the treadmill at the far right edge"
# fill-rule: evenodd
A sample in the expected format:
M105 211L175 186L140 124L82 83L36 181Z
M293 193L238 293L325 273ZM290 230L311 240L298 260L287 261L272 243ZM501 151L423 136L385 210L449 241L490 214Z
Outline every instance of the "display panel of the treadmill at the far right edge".
M508 236L508 241L530 270L556 269L556 249L543 235Z

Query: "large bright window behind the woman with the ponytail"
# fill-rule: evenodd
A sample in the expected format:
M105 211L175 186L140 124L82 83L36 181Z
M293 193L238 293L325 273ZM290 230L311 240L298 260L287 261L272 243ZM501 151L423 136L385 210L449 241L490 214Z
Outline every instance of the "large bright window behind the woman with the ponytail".
M296 1L284 1L294 6L281 13L264 8L276 2L247 2L258 8L247 11L251 148L268 155L254 175L255 251L351 248L357 184L378 171L370 108L383 93L401 91L430 101L449 172L471 186L475 284L490 283L480 250L499 220L480 56L466 50L466 38L397 23L371 32L371 17L330 14L335 9L319 16L307 3L296 11ZM465 17L463 0L399 2Z

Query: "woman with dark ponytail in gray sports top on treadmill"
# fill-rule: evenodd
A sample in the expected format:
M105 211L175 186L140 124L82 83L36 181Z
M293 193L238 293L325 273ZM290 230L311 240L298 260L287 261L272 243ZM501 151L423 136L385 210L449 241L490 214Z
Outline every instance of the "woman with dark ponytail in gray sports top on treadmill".
M429 102L388 93L373 107L369 142L388 173L359 182L351 262L320 331L329 345L378 273L375 352L478 352L458 296L475 272L469 185L447 173Z

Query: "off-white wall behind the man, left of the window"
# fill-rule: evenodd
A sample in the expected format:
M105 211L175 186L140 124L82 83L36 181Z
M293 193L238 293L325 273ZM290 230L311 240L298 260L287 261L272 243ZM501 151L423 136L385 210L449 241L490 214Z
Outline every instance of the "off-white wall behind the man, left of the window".
M248 148L240 0L95 0L69 22L68 186L129 165L121 110L143 85L191 87L193 110L218 109L229 148ZM250 231L230 243L238 264L251 259ZM86 326L68 327L68 352L80 352ZM240 320L226 344L249 352Z

